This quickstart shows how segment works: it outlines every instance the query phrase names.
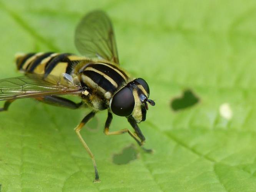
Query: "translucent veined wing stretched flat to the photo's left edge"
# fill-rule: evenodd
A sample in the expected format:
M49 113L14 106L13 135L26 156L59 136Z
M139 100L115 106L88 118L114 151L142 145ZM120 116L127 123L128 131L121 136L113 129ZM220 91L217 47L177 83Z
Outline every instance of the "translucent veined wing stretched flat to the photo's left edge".
M0 80L0 100L82 93L80 85L75 85L64 77L48 76L47 79L43 79L43 75L28 74L2 79Z

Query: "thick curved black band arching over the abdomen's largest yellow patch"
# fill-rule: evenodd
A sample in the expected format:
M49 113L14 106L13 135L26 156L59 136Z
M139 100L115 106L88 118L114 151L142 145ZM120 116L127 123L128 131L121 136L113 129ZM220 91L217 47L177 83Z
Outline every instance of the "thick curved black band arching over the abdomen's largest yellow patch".
M49 61L45 65L44 77L47 77L47 75L50 74L51 71L55 68L55 66L58 65L58 63L60 63L60 62L67 62L68 65L71 65L71 61L67 57L69 55L71 55L71 54L70 53L63 53L61 55L55 56L52 61Z

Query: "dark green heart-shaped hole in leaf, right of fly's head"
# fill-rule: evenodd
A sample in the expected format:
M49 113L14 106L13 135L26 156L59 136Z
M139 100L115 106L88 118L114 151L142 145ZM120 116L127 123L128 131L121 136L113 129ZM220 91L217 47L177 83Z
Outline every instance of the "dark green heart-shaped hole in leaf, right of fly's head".
M191 107L198 102L199 98L190 89L186 89L181 97L174 98L171 101L171 108L173 111L178 111Z

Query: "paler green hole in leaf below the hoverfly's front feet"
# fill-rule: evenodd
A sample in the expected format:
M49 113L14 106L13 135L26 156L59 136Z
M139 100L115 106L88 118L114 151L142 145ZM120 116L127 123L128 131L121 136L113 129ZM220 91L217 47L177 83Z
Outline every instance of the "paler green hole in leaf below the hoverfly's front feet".
M138 152L133 145L125 147L119 154L113 155L113 163L118 165L128 164L130 161L138 158Z

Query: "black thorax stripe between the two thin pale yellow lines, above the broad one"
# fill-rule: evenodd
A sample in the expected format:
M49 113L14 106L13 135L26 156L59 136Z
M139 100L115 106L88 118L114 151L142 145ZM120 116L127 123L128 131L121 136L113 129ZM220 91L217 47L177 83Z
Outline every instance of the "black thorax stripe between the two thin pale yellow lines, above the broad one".
M88 65L87 67L92 67L92 68L106 74L107 76L109 76L111 79L113 79L116 82L118 87L121 86L123 84L123 82L125 81L125 79L119 73L117 73L115 70L113 70L112 68L110 68L106 65L91 64L91 65Z

